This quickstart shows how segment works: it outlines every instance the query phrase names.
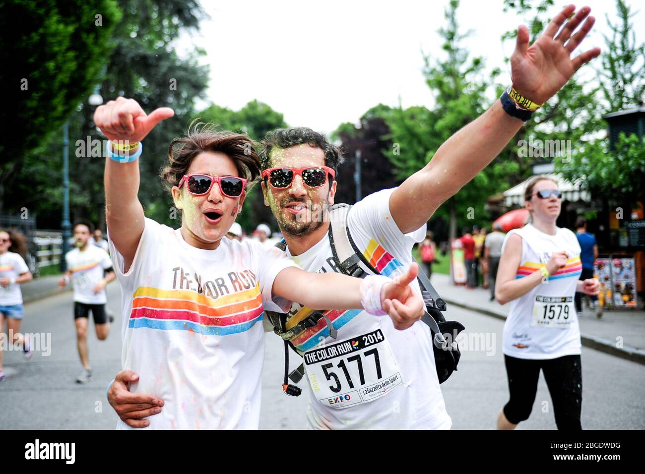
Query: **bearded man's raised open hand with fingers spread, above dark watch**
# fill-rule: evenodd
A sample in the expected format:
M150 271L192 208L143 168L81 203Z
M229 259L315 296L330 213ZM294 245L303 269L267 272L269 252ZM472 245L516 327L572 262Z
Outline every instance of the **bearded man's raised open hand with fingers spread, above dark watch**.
M537 104L543 104L557 94L582 64L600 54L600 48L593 48L571 59L571 53L582 43L595 21L594 17L588 17L591 12L588 6L567 20L573 12L575 6L566 6L530 46L528 28L524 25L517 28L517 43L511 55L511 80L519 94Z

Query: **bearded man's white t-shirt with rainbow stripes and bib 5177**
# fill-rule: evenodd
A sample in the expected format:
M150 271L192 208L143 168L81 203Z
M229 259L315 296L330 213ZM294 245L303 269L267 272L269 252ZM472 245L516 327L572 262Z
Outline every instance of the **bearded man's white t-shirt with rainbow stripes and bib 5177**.
M390 195L382 190L357 202L348 214L352 239L382 275L395 277L412 263L412 247L426 226L404 235L390 214ZM288 250L287 250L288 252ZM293 257L308 272L335 272L327 235L307 252ZM417 281L414 288L419 290ZM321 308L315 308L321 309ZM312 313L294 304L292 324ZM337 329L329 337L327 322L291 339L304 352L310 404L307 419L315 429L450 428L439 389L430 329L421 321L396 330L389 316L362 310L323 311ZM290 328L290 324L287 325ZM324 343L324 349L319 344ZM352 348L348 345L350 344ZM351 354L349 352L352 352Z

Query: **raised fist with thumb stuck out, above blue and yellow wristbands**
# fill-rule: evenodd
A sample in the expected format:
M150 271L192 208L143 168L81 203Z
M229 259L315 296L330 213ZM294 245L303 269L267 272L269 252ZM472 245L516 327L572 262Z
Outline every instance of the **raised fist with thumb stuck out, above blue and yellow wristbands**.
M136 143L143 140L159 122L173 115L175 111L170 107L160 107L146 115L134 99L117 97L115 101L96 109L94 123L110 140Z

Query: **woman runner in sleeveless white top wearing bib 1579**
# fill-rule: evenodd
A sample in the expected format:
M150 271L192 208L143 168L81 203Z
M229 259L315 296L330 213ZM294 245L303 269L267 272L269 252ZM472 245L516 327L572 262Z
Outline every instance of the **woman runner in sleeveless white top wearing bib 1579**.
M511 230L502 246L495 297L511 308L502 339L510 400L497 417L500 430L528 419L541 370L558 429L581 430L581 341L573 298L576 291L595 295L600 283L578 279L578 240L555 225L561 196L550 178L532 179L524 193L532 222Z

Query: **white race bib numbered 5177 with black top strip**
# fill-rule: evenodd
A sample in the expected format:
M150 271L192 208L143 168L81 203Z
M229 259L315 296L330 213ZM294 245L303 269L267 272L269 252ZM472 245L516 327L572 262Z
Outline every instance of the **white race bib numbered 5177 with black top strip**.
M402 382L380 329L306 351L303 358L313 393L330 408L370 402Z

